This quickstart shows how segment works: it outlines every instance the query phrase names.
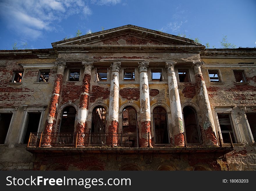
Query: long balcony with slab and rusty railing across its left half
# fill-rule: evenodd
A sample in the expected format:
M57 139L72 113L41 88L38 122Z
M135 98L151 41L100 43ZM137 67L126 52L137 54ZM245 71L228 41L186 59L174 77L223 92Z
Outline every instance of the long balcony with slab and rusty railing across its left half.
M31 153L219 153L231 147L193 146L138 147L138 135L131 133L31 133L26 150Z

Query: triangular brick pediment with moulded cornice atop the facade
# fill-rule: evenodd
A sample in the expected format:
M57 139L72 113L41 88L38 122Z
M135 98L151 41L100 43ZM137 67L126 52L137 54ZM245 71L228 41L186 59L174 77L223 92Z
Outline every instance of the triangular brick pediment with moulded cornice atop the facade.
M57 46L88 45L201 45L179 37L134 25L125 25L52 43Z

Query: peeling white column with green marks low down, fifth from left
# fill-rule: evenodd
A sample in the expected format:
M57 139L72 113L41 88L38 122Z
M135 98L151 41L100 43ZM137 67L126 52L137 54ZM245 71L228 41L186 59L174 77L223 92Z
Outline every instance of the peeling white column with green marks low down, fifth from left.
M183 117L179 99L177 78L174 72L175 64L176 62L166 62L165 67L168 75L168 89L173 123L174 145L184 147Z

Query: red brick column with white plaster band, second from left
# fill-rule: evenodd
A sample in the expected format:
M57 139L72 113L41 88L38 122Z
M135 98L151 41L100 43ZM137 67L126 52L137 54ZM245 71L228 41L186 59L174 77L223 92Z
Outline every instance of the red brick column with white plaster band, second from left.
M77 145L83 146L84 140L82 133L86 133L87 128L87 116L88 116L88 106L90 99L90 81L91 73L93 68L93 62L82 61L84 66L83 72L83 84L82 91L80 94L79 109L77 113L77 128L78 133Z

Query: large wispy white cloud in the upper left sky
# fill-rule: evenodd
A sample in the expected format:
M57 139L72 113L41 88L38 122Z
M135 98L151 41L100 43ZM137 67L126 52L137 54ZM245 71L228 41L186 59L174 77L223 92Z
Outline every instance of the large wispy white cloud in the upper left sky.
M8 28L30 38L38 38L44 31L56 30L56 21L70 15L86 17L92 14L82 0L1 0L0 10L0 17Z

